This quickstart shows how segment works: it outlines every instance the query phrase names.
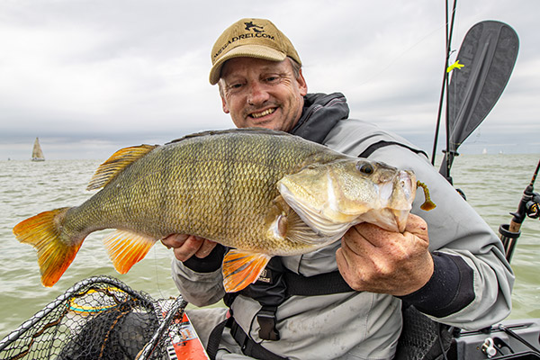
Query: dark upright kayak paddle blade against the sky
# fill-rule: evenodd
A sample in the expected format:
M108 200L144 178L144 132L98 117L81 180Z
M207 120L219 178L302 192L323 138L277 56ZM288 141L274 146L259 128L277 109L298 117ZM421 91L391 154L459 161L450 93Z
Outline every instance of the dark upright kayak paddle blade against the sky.
M448 85L450 143L439 172L447 176L454 153L482 123L509 82L518 58L518 34L506 23L485 21L465 35ZM448 157L448 160L446 160Z

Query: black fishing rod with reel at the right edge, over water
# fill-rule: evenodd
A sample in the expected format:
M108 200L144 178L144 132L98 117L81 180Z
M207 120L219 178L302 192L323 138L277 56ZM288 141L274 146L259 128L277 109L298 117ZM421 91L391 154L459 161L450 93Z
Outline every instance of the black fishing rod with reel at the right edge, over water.
M539 169L540 160L538 160L538 165L536 166L536 170L530 184L527 185L525 191L523 192L521 201L518 204L518 210L515 212L510 212L510 215L513 216L512 220L510 220L509 224L502 224L499 227L500 239L502 240L506 258L509 262L514 253L514 248L516 247L518 238L521 235L521 224L523 221L526 219L526 217L531 219L540 218L540 194L535 193L534 188Z

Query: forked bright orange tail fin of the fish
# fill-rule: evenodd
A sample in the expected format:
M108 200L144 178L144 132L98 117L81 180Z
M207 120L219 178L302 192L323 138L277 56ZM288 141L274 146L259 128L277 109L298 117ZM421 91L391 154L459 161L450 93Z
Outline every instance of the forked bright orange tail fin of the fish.
M44 211L14 227L15 237L38 250L41 284L50 287L71 265L85 238L63 241L60 238L66 212L70 208Z

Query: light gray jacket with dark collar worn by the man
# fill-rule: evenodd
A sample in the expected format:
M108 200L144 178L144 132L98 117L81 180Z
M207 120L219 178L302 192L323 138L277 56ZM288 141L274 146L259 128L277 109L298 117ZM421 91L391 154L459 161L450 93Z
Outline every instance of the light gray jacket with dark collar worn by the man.
M293 296L276 312L281 334L278 341L258 338L260 304L239 295L231 310L242 329L268 350L291 359L390 359L401 333L402 301L434 320L462 329L481 329L508 316L514 277L499 238L438 175L427 157L411 150L417 148L373 124L347 116L342 94L308 94L302 119L292 132L353 156L384 143L387 146L374 149L369 157L412 169L428 184L437 208L421 211L424 196L419 191L412 212L428 222L429 248L437 260L435 274L419 292L402 299L379 293ZM283 263L304 276L336 271L339 246L335 242L309 254L284 257ZM173 277L184 298L197 306L218 302L225 294L220 269L196 272L174 261ZM228 334L222 345L228 350L221 351L218 358L246 358L229 354L239 349Z

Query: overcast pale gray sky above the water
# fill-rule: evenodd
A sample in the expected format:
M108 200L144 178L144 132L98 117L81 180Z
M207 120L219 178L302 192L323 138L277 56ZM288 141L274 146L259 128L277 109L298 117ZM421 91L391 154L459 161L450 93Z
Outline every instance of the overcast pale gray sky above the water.
M509 85L462 152L540 153L540 1L457 2L453 49L483 20L520 40ZM243 17L272 20L310 92L346 94L351 117L431 153L445 1L0 0L0 160L109 157L233 127L208 82L210 49ZM442 134L444 136L444 133Z

